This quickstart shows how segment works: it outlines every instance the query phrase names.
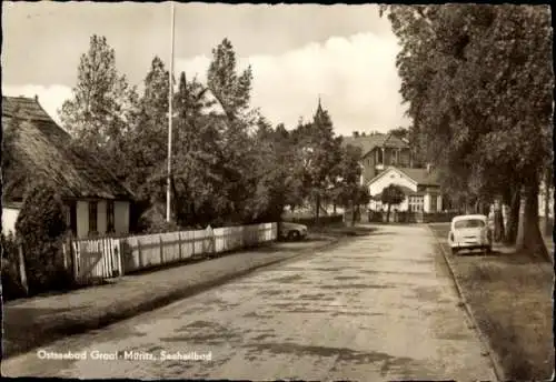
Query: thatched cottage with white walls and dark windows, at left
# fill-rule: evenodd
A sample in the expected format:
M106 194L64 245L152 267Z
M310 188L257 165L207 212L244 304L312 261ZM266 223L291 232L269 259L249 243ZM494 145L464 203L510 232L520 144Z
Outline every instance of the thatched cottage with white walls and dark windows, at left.
M26 191L37 179L57 189L78 238L129 232L132 192L92 152L75 149L37 98L2 97L2 133L4 233L14 231Z

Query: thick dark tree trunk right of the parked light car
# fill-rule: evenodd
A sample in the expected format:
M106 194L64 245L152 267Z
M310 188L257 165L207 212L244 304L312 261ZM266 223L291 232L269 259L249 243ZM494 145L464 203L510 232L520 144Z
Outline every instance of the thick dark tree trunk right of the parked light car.
M530 182L524 188L525 205L519 217L519 233L516 248L518 251L549 259L538 224L538 183ZM519 212L522 212L519 211Z

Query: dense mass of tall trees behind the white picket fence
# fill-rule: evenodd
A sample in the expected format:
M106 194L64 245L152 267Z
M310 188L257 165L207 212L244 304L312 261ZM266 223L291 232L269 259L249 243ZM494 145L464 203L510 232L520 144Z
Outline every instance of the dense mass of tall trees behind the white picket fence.
M206 79L179 74L172 99L173 221L180 227L276 221L287 205L310 202L319 211L324 201L365 201L358 187L360 153L341 147L320 102L310 122L290 130L272 127L251 105L252 79L228 39L212 50ZM138 229L159 229L168 179L165 62L152 59L138 94L117 72L106 38L93 36L73 94L61 110L63 125L78 144L92 142L135 191L133 219L145 217Z

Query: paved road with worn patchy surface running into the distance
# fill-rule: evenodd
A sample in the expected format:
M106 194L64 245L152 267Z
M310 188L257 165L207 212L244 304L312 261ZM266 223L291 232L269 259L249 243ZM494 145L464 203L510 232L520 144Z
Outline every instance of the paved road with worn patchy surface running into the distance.
M30 352L3 362L2 373L494 381L434 243L425 227L381 227L44 349L85 353L86 360L41 360ZM93 360L98 354L117 360ZM195 354L207 360L187 360Z

